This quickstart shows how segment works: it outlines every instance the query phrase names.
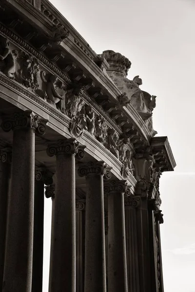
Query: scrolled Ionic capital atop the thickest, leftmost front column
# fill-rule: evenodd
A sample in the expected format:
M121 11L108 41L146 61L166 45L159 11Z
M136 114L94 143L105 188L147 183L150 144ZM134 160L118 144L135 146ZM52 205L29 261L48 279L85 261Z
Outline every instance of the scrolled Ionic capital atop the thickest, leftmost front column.
M32 110L25 110L9 116L2 116L1 128L5 132L9 132L11 129L33 128L39 135L44 135L46 123L47 120L40 119Z

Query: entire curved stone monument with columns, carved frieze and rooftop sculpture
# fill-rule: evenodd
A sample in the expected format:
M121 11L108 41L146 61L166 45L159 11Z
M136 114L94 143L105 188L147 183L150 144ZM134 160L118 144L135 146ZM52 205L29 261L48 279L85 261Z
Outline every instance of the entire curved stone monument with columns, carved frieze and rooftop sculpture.
M48 0L0 0L0 291L163 292L156 95ZM144 86L143 86L144 88Z

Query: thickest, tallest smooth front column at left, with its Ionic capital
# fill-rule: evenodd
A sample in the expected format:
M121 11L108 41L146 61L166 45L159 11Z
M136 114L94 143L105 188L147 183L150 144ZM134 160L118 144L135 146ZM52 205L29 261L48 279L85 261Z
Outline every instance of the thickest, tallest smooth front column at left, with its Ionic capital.
M2 128L14 131L3 291L31 292L35 129L43 134L45 126L25 111L4 119Z

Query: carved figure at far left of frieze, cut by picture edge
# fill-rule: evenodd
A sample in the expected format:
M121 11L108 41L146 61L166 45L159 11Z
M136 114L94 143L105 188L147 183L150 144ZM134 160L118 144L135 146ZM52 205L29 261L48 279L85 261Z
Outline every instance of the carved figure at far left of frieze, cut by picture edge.
M9 48L9 41L5 37L0 37L0 70L7 75L7 77L14 79L16 71L15 58L18 52L13 52Z

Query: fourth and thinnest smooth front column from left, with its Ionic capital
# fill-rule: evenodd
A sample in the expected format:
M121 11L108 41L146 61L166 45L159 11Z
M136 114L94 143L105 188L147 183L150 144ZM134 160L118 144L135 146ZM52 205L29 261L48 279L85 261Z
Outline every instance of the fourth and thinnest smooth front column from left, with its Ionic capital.
M127 292L124 193L130 195L125 180L104 186L108 194L108 292Z

